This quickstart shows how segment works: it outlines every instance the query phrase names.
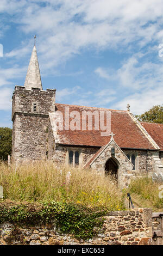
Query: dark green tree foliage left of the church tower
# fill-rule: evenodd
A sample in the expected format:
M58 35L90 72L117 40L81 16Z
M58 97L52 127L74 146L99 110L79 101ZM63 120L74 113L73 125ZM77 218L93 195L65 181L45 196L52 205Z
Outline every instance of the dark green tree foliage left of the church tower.
M12 129L0 127L0 159L7 160L12 148Z

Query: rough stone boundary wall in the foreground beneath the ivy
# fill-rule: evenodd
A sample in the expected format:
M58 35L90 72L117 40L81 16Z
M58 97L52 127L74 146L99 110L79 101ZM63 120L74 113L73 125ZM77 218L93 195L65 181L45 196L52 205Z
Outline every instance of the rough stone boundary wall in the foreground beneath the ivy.
M61 234L55 223L22 226L8 222L0 225L0 245L151 245L152 209L135 208L108 212L102 229L92 239L76 239Z

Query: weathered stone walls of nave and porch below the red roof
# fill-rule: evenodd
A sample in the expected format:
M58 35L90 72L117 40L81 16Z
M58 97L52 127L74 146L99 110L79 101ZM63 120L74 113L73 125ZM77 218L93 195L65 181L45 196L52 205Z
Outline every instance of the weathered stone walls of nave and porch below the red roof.
M110 147L97 159L91 166L93 169L97 169L98 171L101 171L104 174L105 169L105 163L111 157L111 147ZM116 148L116 154L115 159L117 160L119 164L118 168L118 179L120 180L120 185L122 187L128 186L130 183L130 179L134 178L136 176L152 176L154 172L154 161L153 161L153 155L155 154L155 151L147 151L146 150L125 150L120 149L117 146ZM79 152L79 167L85 166L87 161L93 157L99 148L84 148L84 147L71 147L71 146L64 146L64 145L55 145L53 133L51 130L51 126L49 125L49 139L48 139L48 159L53 159L55 163L57 164L65 164L68 165L68 152L72 151L78 151ZM123 153L125 154L122 154ZM136 160L135 160L135 170L133 170L133 166L129 161L127 161L126 155L128 153L135 154Z

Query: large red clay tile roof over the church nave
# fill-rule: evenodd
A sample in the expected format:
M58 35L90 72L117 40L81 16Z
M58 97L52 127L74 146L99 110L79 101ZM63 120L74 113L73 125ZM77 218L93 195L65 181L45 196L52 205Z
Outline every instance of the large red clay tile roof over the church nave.
M128 111L120 111L106 108L74 106L56 103L56 110L64 115L65 107L68 106L70 112L78 111L80 113L80 123L82 124L82 111L111 111L111 131L114 132L114 140L120 148L135 149L155 149L147 137L142 133L139 127L131 119ZM72 118L73 119L73 118ZM105 118L106 119L106 118ZM68 145L86 145L93 147L102 147L108 144L110 136L101 136L100 130L92 131L58 131L59 144Z

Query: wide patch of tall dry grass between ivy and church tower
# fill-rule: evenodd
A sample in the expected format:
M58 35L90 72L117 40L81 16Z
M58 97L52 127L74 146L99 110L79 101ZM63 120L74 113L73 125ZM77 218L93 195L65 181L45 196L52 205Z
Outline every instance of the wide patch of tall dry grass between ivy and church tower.
M66 175L70 172L70 182ZM10 167L0 163L0 185L4 199L37 202L73 202L89 206L105 206L110 210L124 209L124 194L116 182L95 170L55 166L38 161Z

